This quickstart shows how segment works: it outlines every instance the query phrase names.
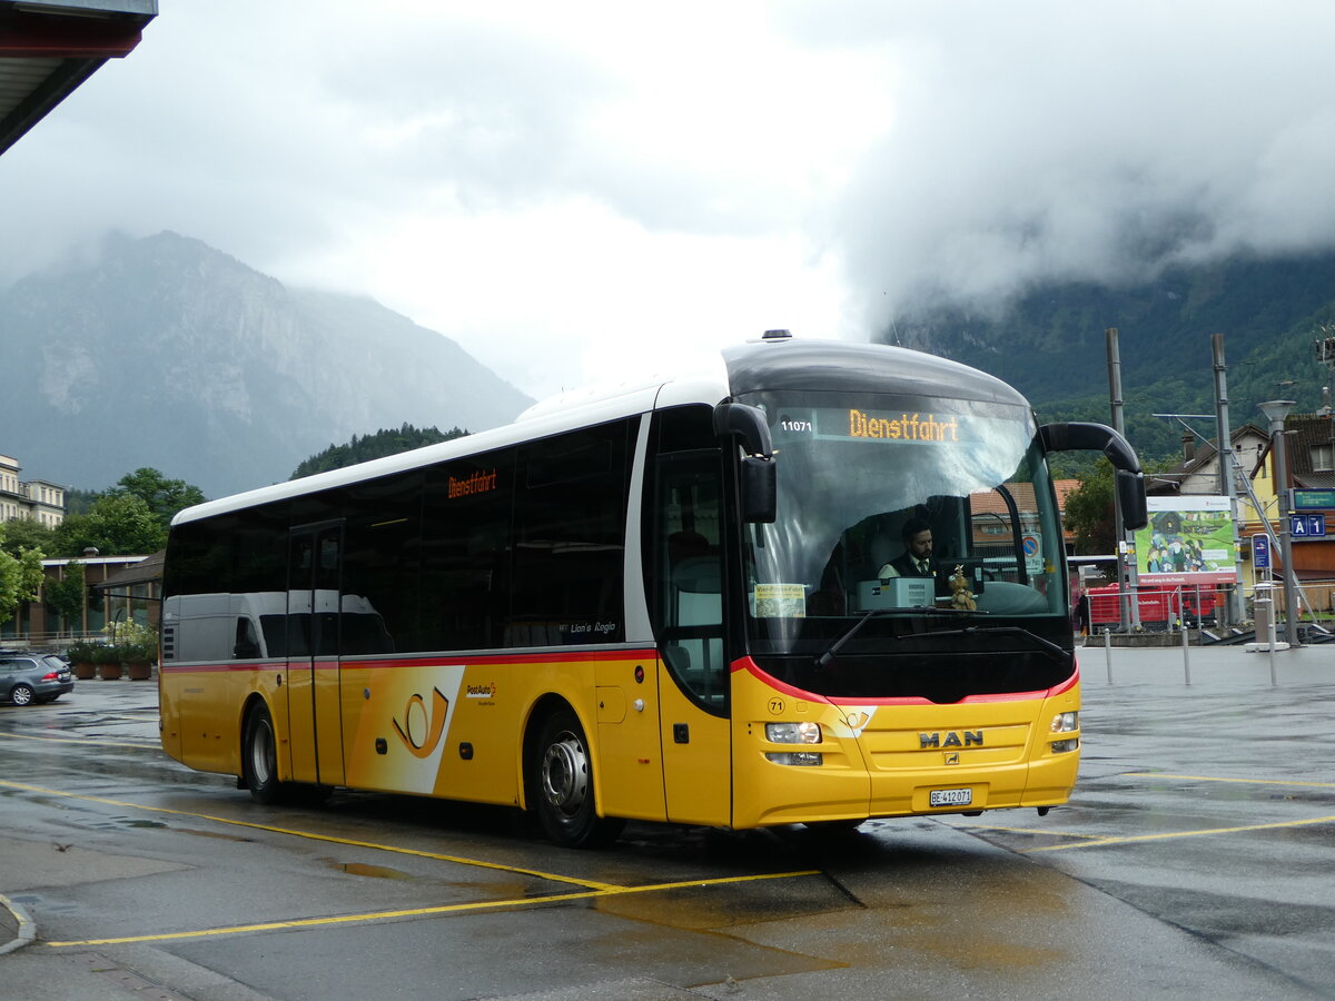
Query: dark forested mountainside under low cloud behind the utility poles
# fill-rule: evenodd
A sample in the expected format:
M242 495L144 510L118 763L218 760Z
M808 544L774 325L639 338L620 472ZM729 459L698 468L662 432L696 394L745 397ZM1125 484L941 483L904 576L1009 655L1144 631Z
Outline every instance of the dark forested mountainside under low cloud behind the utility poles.
M1180 455L1179 423L1155 414L1215 412L1211 335L1224 335L1230 422L1264 423L1256 403L1322 406L1331 372L1315 359L1335 320L1335 252L1236 256L1175 267L1131 286L1053 283L993 310L937 307L880 339L945 355L1016 386L1041 420L1109 420L1104 330L1117 328L1127 435L1143 458ZM1212 438L1214 422L1192 426Z

